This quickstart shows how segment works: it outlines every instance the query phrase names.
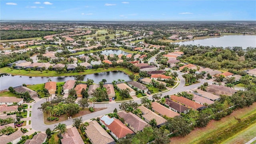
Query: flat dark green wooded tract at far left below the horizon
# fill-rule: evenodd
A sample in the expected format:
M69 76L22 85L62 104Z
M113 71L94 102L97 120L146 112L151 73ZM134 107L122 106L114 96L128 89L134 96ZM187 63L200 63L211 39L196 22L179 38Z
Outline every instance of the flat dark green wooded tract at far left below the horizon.
M1 40L13 40L20 38L35 38L43 37L51 34L61 34L62 30L58 31L45 31L45 30L1 30Z

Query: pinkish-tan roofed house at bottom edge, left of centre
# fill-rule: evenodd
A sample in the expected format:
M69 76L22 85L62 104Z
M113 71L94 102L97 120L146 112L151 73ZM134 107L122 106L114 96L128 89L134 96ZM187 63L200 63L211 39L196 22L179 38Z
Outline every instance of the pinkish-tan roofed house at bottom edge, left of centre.
M76 127L68 128L64 134L62 134L62 144L84 144L82 137L80 136Z

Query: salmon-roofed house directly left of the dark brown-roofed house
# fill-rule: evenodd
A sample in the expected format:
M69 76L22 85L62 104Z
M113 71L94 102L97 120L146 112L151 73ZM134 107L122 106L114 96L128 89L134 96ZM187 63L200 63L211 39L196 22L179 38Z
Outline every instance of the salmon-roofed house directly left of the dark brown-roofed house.
M166 115L169 118L174 118L174 116L180 116L180 114L170 110L169 108L166 108L165 106L163 106L162 104L159 104L158 102L152 102L151 104L152 104L152 110L154 110L156 114L160 114L160 116Z

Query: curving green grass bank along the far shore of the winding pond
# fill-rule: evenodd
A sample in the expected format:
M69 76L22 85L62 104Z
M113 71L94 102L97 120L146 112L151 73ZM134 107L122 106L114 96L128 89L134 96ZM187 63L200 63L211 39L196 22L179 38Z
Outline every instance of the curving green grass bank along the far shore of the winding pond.
M123 68L120 66L117 67L111 67L111 68L98 68L96 69L90 69L90 70L85 70L84 72L68 72L68 73L62 73L62 74L57 74L55 71L49 71L48 73L46 73L45 71L41 72L36 70L32 70L31 72L26 71L26 70L10 70L9 67L4 67L4 68L0 68L0 72L2 73L7 73L7 74L12 74L12 75L21 75L21 76L76 76L76 75L86 75L86 74L95 74L95 73L99 73L99 72L110 72L110 71L122 71L126 74L133 74L132 71L128 70L127 68ZM136 73L134 74L136 75Z

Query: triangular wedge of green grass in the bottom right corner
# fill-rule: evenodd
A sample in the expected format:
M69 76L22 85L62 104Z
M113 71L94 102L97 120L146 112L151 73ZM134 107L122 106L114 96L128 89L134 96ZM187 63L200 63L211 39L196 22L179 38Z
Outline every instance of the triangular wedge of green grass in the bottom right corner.
M245 144L256 136L256 124L252 124L248 128L238 132L231 138L228 138L222 144ZM253 143L254 144L254 143Z

